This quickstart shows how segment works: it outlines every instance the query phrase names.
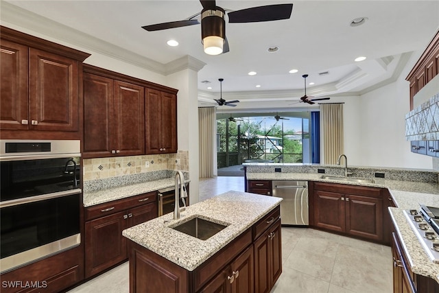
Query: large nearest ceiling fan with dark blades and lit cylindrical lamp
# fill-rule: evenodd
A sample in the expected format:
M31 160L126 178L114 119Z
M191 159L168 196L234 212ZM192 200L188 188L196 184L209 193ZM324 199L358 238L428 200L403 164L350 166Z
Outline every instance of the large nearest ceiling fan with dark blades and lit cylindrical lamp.
M215 0L200 0L203 7L201 12L189 16L182 21L168 23L156 23L144 25L142 28L148 32L167 30L174 27L185 27L200 24L196 19L201 15L201 38L204 52L209 55L218 55L228 52L228 40L226 38L226 10L216 5ZM229 23L257 23L261 21L279 21L289 19L293 10L293 4L274 4L246 8L227 12Z

